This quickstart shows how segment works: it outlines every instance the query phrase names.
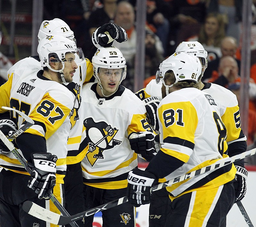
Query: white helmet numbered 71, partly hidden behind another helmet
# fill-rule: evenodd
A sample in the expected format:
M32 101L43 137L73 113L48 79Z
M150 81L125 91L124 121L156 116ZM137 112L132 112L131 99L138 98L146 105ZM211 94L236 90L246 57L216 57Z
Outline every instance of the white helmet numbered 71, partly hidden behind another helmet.
M59 18L53 20L44 20L38 31L38 42L44 39L46 36L60 35L68 39L76 41L74 32L70 29L67 23Z

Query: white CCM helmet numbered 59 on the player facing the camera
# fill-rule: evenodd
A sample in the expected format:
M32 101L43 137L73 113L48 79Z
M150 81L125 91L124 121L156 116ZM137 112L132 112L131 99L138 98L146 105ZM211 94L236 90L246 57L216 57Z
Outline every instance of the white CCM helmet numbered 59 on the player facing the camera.
M101 68L104 69L122 69L119 85L126 76L126 64L125 58L121 51L112 47L99 47L92 57L93 75L97 79L97 82L101 86L99 72ZM102 87L101 87L102 89Z

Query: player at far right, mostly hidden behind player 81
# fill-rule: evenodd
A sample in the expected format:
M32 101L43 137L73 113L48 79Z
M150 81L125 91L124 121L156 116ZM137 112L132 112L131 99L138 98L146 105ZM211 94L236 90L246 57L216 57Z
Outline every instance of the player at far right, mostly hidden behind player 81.
M181 42L180 45L177 47L176 51L184 52L186 54L198 57L202 64L202 76L204 75L204 71L207 68L207 51L204 50L204 47L202 46L201 43L197 41ZM157 84L155 80L152 80L148 84L146 89L142 89L140 91L140 94L143 94L146 97L149 96L148 94L152 94L152 96L159 97L160 84L161 82ZM246 136L244 135L240 127L241 120L236 95L234 95L230 90L219 85L212 83L203 83L201 81L201 77L199 77L198 89L210 94L214 98L215 102L217 103L220 109L221 119L227 128L228 136L226 141L228 143L228 156L232 157L234 155L245 152L247 148ZM151 116L154 115L151 114ZM151 118L153 119L154 117ZM243 161L237 161L234 164L237 168L234 186L236 190L236 201L238 201L243 199L246 193L247 176L242 173L247 173L247 170L244 168ZM162 189L152 194L151 203L149 207L149 226L164 226L166 210L170 209L169 201L167 201L166 206L164 205L164 203L166 203L166 200L164 200L164 197L166 196L165 191L165 189ZM155 219L154 217L156 216L160 216L160 218ZM223 223L223 226L225 225L226 224Z

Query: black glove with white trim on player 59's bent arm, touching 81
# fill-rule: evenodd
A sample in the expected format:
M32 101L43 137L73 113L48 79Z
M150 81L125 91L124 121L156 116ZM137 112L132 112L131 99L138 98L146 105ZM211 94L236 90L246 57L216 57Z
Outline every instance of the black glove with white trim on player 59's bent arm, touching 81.
M152 132L132 132L128 136L132 150L136 154L151 155L156 152L155 149L155 134Z

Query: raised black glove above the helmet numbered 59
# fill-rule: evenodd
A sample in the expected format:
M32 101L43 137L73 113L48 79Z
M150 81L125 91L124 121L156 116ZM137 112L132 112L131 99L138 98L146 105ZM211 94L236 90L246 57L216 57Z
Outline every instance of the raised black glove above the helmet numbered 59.
M127 33L124 28L113 23L107 23L97 28L92 34L92 43L99 48L111 47L114 40L124 42L127 40Z

